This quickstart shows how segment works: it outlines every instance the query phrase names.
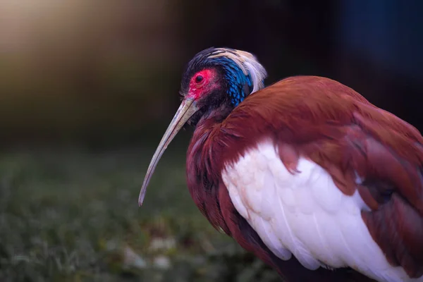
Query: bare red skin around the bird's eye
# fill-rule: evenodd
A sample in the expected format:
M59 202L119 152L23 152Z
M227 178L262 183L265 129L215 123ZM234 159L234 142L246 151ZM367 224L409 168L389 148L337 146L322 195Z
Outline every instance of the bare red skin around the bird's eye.
M201 81L198 80L199 77L202 77ZM190 87L186 98L194 98L194 100L199 99L204 94L219 87L217 80L218 75L214 69L205 69L195 73L190 80Z

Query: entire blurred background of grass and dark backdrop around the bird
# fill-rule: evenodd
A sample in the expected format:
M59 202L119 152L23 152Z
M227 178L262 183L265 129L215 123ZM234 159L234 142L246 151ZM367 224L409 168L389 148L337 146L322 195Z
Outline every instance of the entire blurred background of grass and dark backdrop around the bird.
M243 49L266 84L333 78L421 130L422 12L417 0L0 0L0 281L278 281L190 199L190 129L137 207L185 63Z

